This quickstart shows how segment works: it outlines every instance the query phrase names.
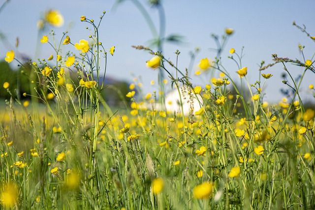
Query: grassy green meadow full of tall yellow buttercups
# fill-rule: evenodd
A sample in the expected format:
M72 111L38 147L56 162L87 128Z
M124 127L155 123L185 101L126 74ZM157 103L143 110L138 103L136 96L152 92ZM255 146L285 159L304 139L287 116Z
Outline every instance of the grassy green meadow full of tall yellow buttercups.
M199 60L195 72L219 76L192 86L187 69L167 59L174 52L178 57L179 50L133 46L152 56L143 65L160 72L159 88L143 94L135 81L128 92L112 93L128 98L123 108L110 107L100 93L107 88L106 62L115 59L115 46L99 38L105 15L97 21L81 16L90 40L72 42L67 32L42 36L41 44L54 50L48 59L23 63L13 49L6 53L6 62L31 69L18 72L29 77L31 91L20 97L12 84L1 84L11 96L0 113L3 208L315 209L315 110L299 92L305 72L315 73L312 56L292 60L274 54L274 63L262 61L259 70L248 71L241 50L223 48L234 32L227 28L218 39L218 56ZM42 24L62 21L50 10ZM73 51L63 52L64 45ZM303 54L304 46L299 49ZM221 62L222 50L236 63L237 82ZM290 76L289 64L303 69L298 80ZM282 81L289 91L271 104L263 90L274 65L289 75ZM248 73L257 78L253 84ZM175 102L167 100L166 86L177 91ZM315 94L314 85L309 90Z

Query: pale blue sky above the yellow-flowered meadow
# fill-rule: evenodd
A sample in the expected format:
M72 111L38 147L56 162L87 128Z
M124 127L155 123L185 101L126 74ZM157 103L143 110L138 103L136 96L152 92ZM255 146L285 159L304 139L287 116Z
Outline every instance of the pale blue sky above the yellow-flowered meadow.
M139 0L158 27L158 12L148 6L146 0ZM0 0L0 5L4 0ZM181 51L179 67L185 70L189 66L189 52L196 47L200 48L192 69L191 75L196 70L200 59L214 59L215 53L210 48L215 48L215 42L210 37L211 33L224 34L225 28L233 28L235 32L229 38L225 51L222 53L222 63L227 71L238 81L235 73L238 68L227 57L229 49L235 48L240 53L244 46L243 66L248 67L248 79L254 82L258 79L258 64L261 60L272 62L272 54L279 57L303 60L299 53L298 45L305 45L306 59L314 60L314 41L308 38L296 27L305 25L311 35L315 35L312 0L164 0L163 6L166 16L166 35L176 33L184 36L184 43L180 45L165 44L163 54L171 60L176 59L174 52ZM146 60L151 58L146 52L137 51L131 45L149 45L152 34L139 10L125 0L113 8L115 0L54 0L54 1L22 1L10 0L0 12L0 32L5 35L7 42L0 42L0 58L5 57L9 50L16 50L12 46L16 37L20 39L18 52L34 59L36 43L39 37L36 22L44 11L58 9L64 17L61 28L52 28L56 38L62 37L62 32L67 30L73 43L80 39L89 39L89 32L85 29L88 25L80 22L80 16L98 21L102 11L105 10L103 22L100 27L101 42L106 48L116 46L113 57L108 60L107 76L132 82L134 77L141 77L145 92L158 90L150 85L151 80L157 81L157 72L145 66ZM48 34L50 30L46 31ZM8 44L10 43L11 46ZM47 59L53 53L48 45L40 46L40 58ZM64 49L75 51L75 49ZM38 54L38 52L37 52ZM17 63L13 63L16 65ZM295 68L288 64L288 70L293 76L300 74L303 69ZM267 81L266 99L279 101L282 97L280 88L281 74L284 73L280 64L266 70L274 76ZM214 72L218 76L218 72ZM314 73L307 72L301 87L304 98L312 99L308 86L314 82ZM192 77L194 85L205 86L210 83L210 74Z

